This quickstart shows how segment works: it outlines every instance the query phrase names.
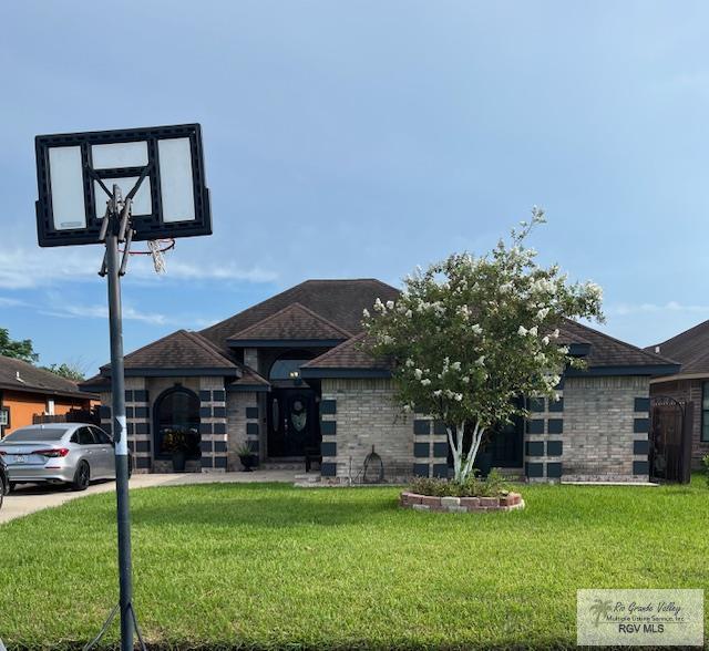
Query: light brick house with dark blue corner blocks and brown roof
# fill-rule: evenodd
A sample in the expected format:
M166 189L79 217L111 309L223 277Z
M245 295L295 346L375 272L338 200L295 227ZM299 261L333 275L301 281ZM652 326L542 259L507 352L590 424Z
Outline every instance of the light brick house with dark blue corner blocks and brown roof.
M362 310L398 293L372 279L309 280L126 355L136 469L169 471L165 435L183 430L195 471L238 469L236 450L248 444L270 462L321 451L321 475L335 480L361 477L372 450L388 479L446 474L442 425L403 414L392 401L390 366L360 347ZM650 378L678 366L571 321L561 341L588 370L566 372L558 402L532 400L530 421L493 436L493 464L537 480L647 480ZM103 366L83 384L101 393L105 426L110 375Z

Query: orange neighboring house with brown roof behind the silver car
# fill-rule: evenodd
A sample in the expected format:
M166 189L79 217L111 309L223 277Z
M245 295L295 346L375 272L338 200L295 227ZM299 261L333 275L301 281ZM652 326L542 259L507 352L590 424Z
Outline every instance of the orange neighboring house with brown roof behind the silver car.
M39 416L89 412L92 400L75 382L32 364L0 355L0 437L31 425Z

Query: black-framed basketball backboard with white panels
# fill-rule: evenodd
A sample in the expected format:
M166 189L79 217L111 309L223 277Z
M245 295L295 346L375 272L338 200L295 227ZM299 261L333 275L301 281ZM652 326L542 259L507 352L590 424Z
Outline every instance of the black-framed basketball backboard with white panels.
M212 234L198 124L40 135L37 231L41 247L99 244L109 196L133 197L134 240Z

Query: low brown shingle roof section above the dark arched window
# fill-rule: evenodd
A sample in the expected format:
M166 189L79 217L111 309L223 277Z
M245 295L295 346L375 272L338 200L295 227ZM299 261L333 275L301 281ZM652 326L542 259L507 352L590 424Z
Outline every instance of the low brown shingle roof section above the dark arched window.
M125 355L125 369L224 369L237 365L198 332L177 330ZM101 366L109 372L111 364Z

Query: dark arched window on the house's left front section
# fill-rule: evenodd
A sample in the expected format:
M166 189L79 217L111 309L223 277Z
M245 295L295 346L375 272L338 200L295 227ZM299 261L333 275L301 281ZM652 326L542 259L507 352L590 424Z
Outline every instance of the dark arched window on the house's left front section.
M155 458L168 459L175 446L183 446L187 458L201 457L199 397L184 386L162 393L153 406Z

